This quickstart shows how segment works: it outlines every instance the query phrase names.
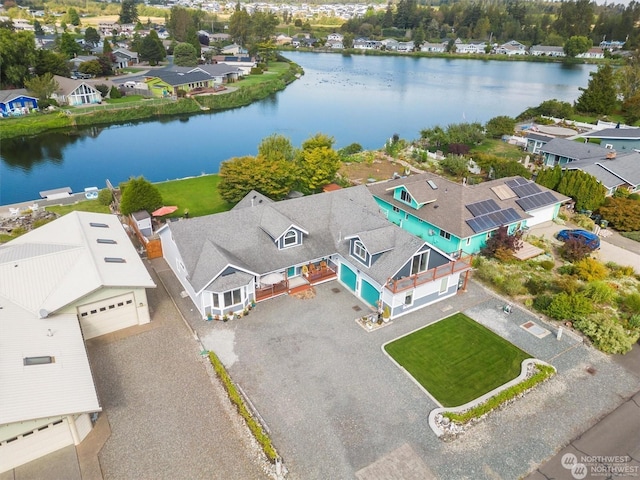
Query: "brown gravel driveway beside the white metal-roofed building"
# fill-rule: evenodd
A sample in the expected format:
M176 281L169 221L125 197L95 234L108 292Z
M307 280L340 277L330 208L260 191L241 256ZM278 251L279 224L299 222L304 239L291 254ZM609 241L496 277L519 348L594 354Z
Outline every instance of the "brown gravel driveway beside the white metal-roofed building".
M99 455L104 478L267 478L247 429L152 274L152 323L87 342L111 426Z

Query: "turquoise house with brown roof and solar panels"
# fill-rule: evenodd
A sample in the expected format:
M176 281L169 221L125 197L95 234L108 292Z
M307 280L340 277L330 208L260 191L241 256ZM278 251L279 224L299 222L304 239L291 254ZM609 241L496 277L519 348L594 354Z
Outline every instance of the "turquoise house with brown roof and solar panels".
M514 233L551 221L570 200L522 177L467 185L423 173L368 188L389 221L452 257L479 252L503 225Z

